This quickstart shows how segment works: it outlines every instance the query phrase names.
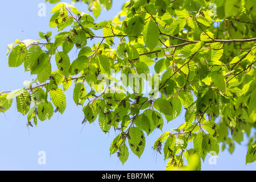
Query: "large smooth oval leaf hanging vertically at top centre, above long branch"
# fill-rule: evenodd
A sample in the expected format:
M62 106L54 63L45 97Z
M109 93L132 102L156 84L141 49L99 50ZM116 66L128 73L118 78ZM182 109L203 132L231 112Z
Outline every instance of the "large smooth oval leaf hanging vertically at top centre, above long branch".
M159 39L159 30L157 24L153 20L148 20L143 29L143 40L146 46L152 50L155 48Z

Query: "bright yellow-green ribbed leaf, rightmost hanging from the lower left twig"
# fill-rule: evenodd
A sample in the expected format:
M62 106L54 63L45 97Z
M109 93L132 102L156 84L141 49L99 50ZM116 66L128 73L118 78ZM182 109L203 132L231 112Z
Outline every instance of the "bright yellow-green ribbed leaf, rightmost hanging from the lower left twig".
M58 108L61 114L63 114L66 108L66 97L63 90L61 90L61 88L57 88L56 90L49 90L49 95L51 96L55 107Z

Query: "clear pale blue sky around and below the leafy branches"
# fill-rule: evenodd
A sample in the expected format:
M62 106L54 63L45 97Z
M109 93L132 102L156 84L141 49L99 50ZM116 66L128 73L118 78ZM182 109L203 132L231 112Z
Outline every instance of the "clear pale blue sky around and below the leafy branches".
M65 1L70 3L71 1ZM121 10L125 1L114 0L110 11L102 10L97 22L110 20ZM32 80L30 73L24 72L23 67L9 68L6 57L7 45L15 39L38 39L38 32L52 31L49 28L52 4L46 3L46 16L38 16L38 5L43 0L34 1L3 1L1 16L0 43L0 91L10 91L23 88L24 80ZM77 9L87 12L84 3L77 3ZM96 42L97 40L93 40ZM88 43L89 46L93 42ZM77 52L69 54L75 60ZM53 115L50 121L39 122L38 127L27 129L27 117L16 111L15 102L5 115L0 114L0 169L1 170L164 170L167 161L163 155L156 155L151 147L156 138L162 133L154 131L146 137L146 147L141 159L130 152L129 159L123 166L116 155L109 155L109 147L118 133L113 130L105 134L95 121L86 123L82 132L82 107L77 107L72 98L73 87L65 92L67 109L64 114ZM184 121L184 110L180 117L165 123L163 132L179 126ZM210 165L205 158L203 170L255 170L256 163L245 165L247 140L241 145L236 144L233 155L227 150L220 152L217 165ZM46 165L38 164L38 152L46 152Z

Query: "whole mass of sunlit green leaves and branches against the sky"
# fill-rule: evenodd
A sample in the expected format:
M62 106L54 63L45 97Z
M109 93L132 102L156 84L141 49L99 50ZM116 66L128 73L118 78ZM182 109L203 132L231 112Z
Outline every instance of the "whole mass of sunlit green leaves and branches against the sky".
M112 6L112 0L83 2L95 18L101 7ZM158 129L163 134L153 148L163 152L167 170L201 169L208 153L218 155L219 143L232 153L244 134L250 138L246 163L256 160L253 1L131 0L113 20L100 23L68 3L58 3L51 13L49 27L59 34L39 32L38 40L9 44L9 67L23 64L37 78L24 81L22 89L0 92L1 113L16 99L27 126L36 126L38 119L64 113L64 91L73 83L82 123L98 121L105 133L112 127L119 131L110 154L117 153L122 163L129 148L140 158L145 136ZM94 34L99 31L102 36ZM86 46L92 39L100 41ZM75 60L68 56L72 48L79 49ZM151 89L144 93L147 84ZM181 107L184 123L166 131L164 121L180 115Z

